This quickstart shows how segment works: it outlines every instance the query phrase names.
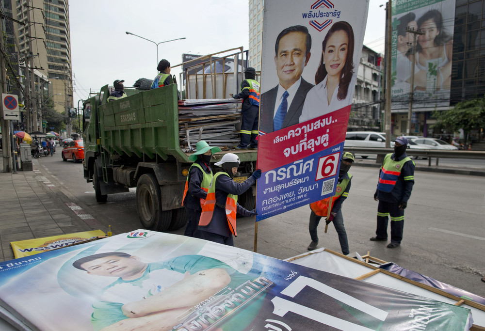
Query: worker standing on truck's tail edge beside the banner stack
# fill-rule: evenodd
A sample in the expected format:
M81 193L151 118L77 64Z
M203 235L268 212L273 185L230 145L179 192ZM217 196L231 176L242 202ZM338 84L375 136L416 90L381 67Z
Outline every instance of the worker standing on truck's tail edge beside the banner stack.
M259 83L255 80L256 69L247 67L244 70L244 80L241 82L241 93L230 95L234 99L242 99L241 143L237 149L258 149L259 121Z

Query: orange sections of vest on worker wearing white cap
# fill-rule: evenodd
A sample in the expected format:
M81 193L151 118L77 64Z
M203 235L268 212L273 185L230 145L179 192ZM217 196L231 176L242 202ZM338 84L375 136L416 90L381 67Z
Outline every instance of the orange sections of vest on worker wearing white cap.
M219 172L214 175L212 181L210 182L209 191L207 192L206 202L202 207L202 213L200 214L199 226L209 226L214 215L214 208L216 204L215 200L215 182L219 175L226 175L227 173ZM234 194L227 194L226 199L226 218L229 225L229 230L231 230L234 236L238 236L236 232L236 203L238 201L238 196Z

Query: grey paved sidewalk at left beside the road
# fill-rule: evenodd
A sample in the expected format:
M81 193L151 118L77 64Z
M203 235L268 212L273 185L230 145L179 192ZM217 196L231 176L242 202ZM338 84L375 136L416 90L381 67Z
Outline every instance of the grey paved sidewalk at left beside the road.
M36 169L3 173L0 151L0 261L11 260L11 241L93 230L66 203L69 199Z

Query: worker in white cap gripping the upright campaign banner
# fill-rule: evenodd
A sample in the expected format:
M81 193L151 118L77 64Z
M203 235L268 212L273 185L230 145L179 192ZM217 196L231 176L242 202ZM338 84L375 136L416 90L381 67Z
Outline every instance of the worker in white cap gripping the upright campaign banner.
M256 170L242 183L236 183L232 177L237 173L239 157L236 154L227 153L215 163L222 168L212 178L207 199L202 207L199 221L200 238L234 246L232 235L236 232L236 212L249 217L257 215L256 209L251 211L237 203L238 195L248 190L256 180L261 177L261 170Z

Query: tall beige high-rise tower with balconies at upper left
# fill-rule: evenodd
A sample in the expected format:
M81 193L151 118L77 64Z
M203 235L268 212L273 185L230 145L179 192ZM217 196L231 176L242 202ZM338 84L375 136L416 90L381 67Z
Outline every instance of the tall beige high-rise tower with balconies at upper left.
M16 46L20 65L28 70L33 67L37 72L37 75L34 74L35 101L39 107L42 106L39 102L45 98L38 92L47 89L54 109L67 113L74 105L69 1L17 0L12 10L14 18L25 23L15 23Z

